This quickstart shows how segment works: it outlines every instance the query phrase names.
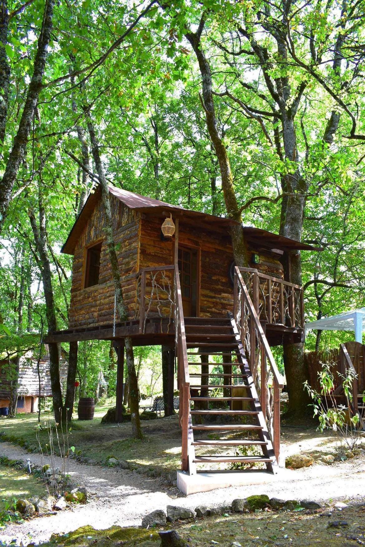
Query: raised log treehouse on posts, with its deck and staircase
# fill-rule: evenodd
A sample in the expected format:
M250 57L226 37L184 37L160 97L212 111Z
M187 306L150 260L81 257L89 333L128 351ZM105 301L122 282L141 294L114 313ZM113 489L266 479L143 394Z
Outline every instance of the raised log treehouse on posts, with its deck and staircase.
M312 247L245 227L250 268L238 268L229 235L233 220L114 187L109 192L128 321L115 321L97 189L62 248L74 256L69 328L47 341L114 341L117 416L124 338L131 336L136 346L170 346L177 361L182 469L194 474L197 467L236 462L274 471L283 379L270 346L304 340L303 288L291 283L290 252ZM169 231L169 219L175 232L166 237L161 226ZM173 367L170 375L169 398Z

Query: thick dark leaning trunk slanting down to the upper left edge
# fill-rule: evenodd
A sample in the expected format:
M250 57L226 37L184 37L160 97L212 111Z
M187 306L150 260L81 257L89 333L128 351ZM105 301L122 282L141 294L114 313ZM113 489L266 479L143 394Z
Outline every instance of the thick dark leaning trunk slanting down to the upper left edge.
M42 79L47 59L48 45L51 38L54 4L55 0L47 0L47 2L45 2L43 22L38 38L37 54L34 59L33 75L28 85L28 92L18 131L14 137L13 147L10 150L9 159L5 167L2 181L0 182L0 232L11 201L11 192L15 183L16 174L18 173L21 161L26 154L34 112L37 106L39 92L42 89ZM1 36L0 38L2 39L3 37Z

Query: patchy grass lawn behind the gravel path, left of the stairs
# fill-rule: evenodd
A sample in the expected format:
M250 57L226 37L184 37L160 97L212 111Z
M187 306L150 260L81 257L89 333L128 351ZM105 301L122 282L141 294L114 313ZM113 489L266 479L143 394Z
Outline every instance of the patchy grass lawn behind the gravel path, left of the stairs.
M94 420L79 421L74 415L68 435L69 446L74 446L78 455L92 459L97 463L105 463L108 457L125 459L136 465L169 472L180 467L181 461L181 430L178 426L178 416L158 417L157 420L142 421L144 439L130 438L130 423L101 424L101 418L114 401L109 400L103 406L95 409ZM39 451L39 441L43 450L49 443L47 424L52 422L51 412L42 412L38 429L36 414L20 414L15 418L2 418L1 430L3 439L24 446L25 449ZM57 441L54 438L57 449ZM58 450L56 450L58 451Z

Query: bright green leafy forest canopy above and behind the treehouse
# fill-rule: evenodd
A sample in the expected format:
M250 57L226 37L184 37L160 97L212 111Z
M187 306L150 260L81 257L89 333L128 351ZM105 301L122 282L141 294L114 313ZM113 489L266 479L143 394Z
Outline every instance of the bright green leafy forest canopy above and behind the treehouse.
M322 247L293 257L307 321L364 306L364 13L362 0L2 2L1 351L67 328L60 249L103 181ZM348 336L311 333L305 348Z

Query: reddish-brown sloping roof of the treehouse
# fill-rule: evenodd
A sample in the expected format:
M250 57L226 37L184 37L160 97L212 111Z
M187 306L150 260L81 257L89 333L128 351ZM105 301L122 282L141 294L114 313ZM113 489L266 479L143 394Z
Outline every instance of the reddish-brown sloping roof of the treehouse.
M124 205L136 211L155 211L161 213L166 211L171 212L178 217L184 216L187 218L190 217L195 220L206 220L207 222L211 222L212 225L218 224L222 227L226 226L227 228L232 224L237 224L235 220L229 218L216 217L212 214L202 213L201 211L184 209L183 207L171 205L171 203L166 203L165 201L155 200L153 199L153 197L141 196L140 194L135 194L134 192L130 192L122 188L116 188L112 185L109 185L109 192L113 196L117 197L118 200L123 202ZM94 207L100 200L100 194L100 187L97 187L95 188L93 193L89 195L82 211L76 219L76 222L72 226L71 232L69 232L65 245L63 245L61 249L62 253L73 254L77 240L82 234L82 231L86 225L86 222L88 221L90 214L94 210ZM285 251L289 249L304 249L308 251L321 250L310 245L306 245L305 243L300 243L299 241L273 234L273 232L254 228L253 226L243 226L243 230L245 232L245 236L248 239L257 243L261 243L264 247L272 246Z

